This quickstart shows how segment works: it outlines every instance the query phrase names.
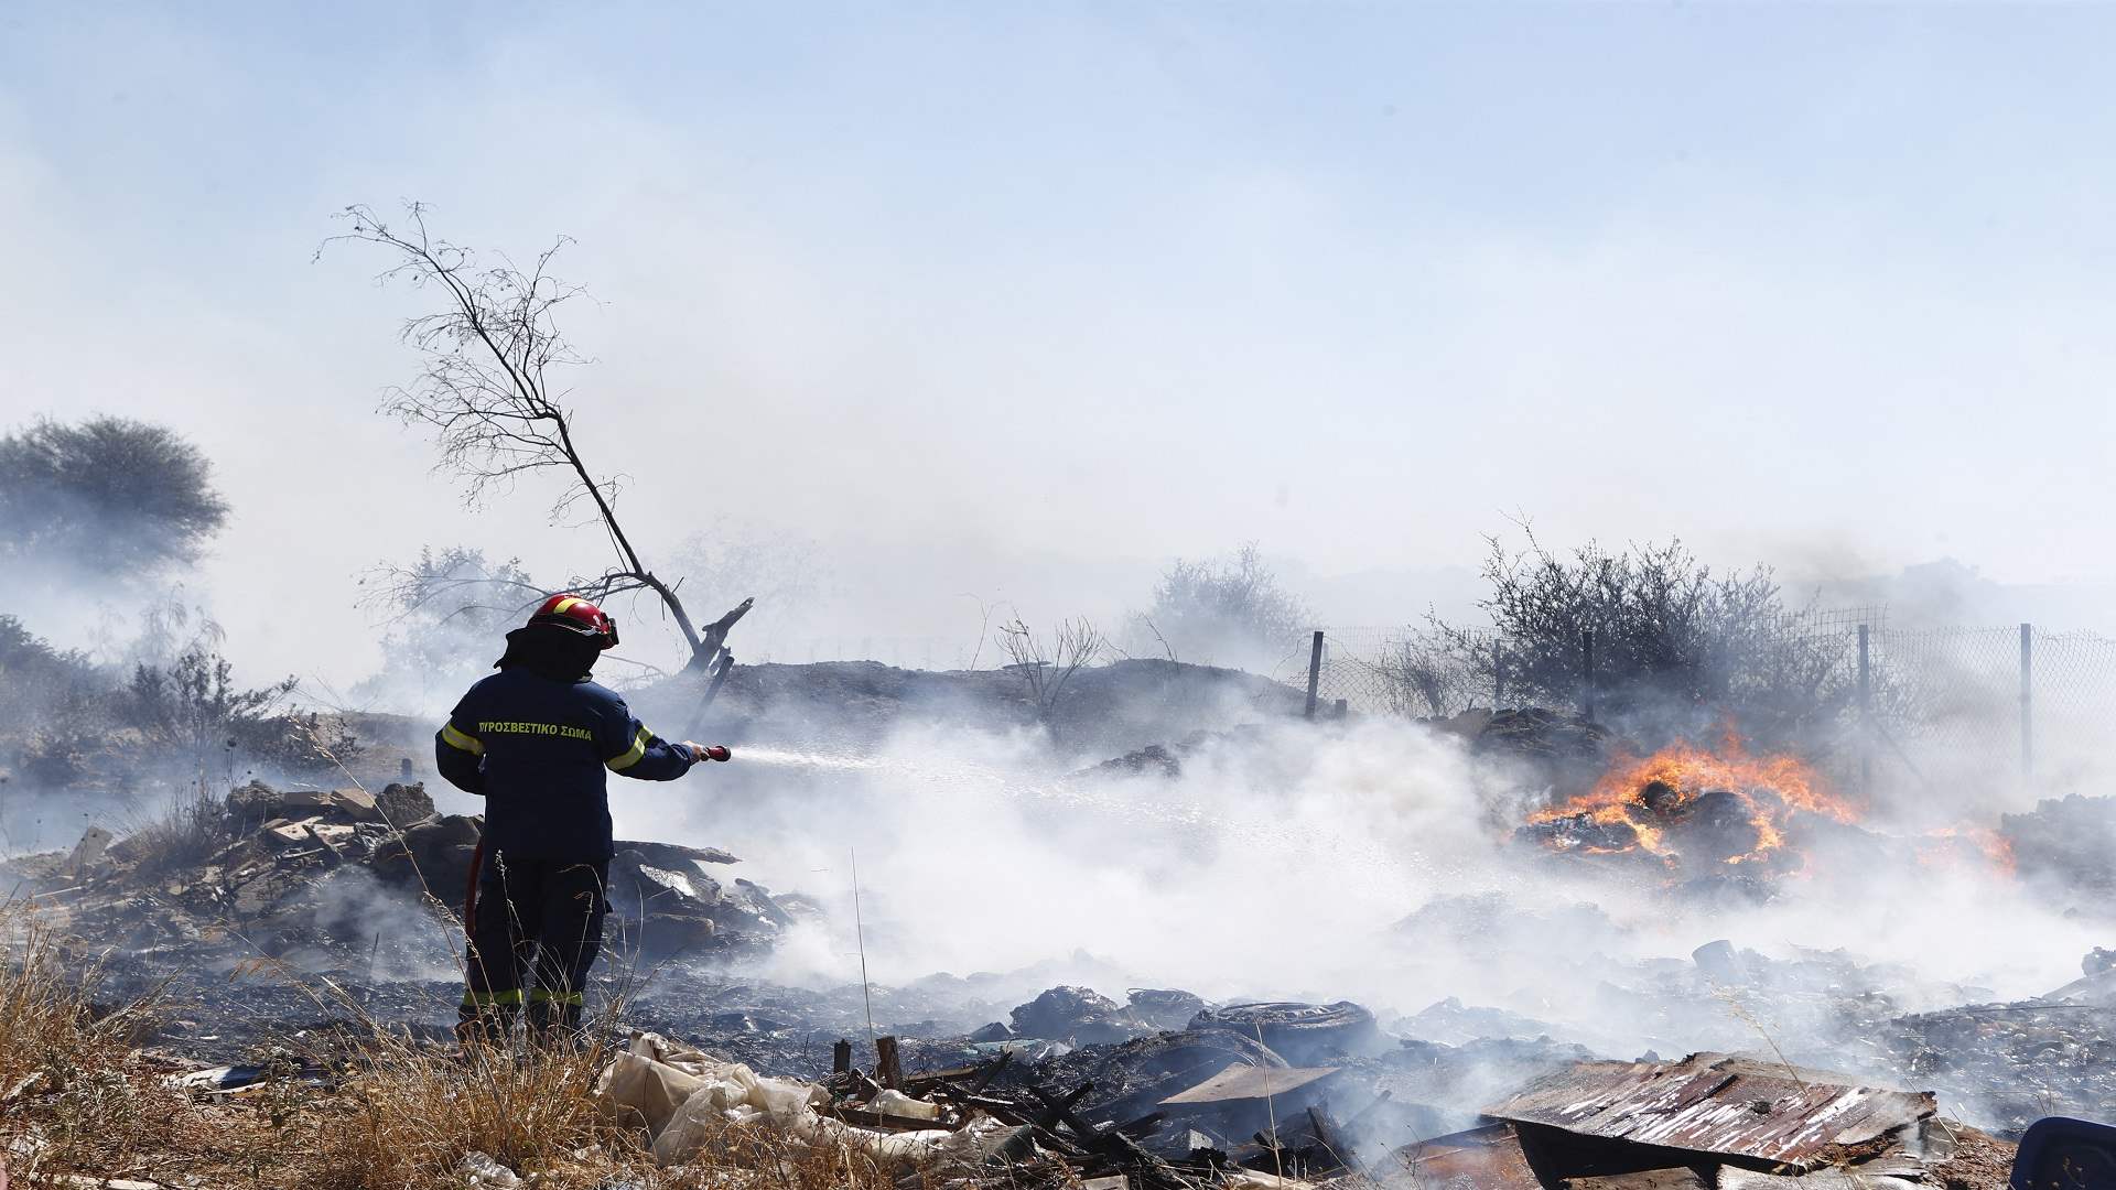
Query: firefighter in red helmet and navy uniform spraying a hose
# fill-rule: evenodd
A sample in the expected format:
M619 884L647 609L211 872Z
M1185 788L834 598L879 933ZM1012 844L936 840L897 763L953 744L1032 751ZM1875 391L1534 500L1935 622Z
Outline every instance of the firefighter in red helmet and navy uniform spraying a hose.
M463 906L466 1044L504 1040L525 1004L531 1035L578 1033L616 851L605 771L673 781L728 758L726 747L660 739L588 680L616 644L618 625L601 608L552 595L508 633L499 673L472 686L434 735L440 775L485 798Z

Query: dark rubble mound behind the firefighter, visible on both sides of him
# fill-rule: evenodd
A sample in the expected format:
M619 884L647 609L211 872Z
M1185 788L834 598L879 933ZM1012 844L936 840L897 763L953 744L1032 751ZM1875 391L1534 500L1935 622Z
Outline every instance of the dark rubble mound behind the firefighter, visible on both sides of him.
M453 978L451 917L480 822L436 813L423 786L275 790L260 781L125 839L0 864L19 896L129 972L224 972L271 957L300 970ZM607 946L626 966L768 951L798 898L715 877L726 851L620 841Z

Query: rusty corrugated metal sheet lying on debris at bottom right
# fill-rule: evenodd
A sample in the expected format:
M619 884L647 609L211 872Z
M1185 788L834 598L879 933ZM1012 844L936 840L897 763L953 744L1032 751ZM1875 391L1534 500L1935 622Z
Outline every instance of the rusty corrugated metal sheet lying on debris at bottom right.
M1485 1107L1485 1116L1807 1173L1830 1165L1835 1148L1873 1141L1936 1110L1932 1093L1830 1078L1727 1054L1581 1063Z

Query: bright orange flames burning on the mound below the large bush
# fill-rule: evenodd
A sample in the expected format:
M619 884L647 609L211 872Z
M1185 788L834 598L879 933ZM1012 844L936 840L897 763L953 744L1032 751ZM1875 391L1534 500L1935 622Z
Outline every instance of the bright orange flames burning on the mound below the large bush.
M1661 786L1665 803L1648 805L1646 790ZM1676 860L1665 824L1680 815L1699 794L1727 790L1739 798L1756 830L1756 847L1731 855L1727 864L1754 864L1786 845L1786 824L1794 811L1858 822L1860 811L1826 788L1826 781L1796 756L1752 756L1735 731L1727 731L1718 750L1674 743L1646 758L1619 758L1585 794L1538 811L1532 824L1587 817L1602 826L1627 826L1638 847L1665 862ZM1587 847L1608 851L1608 847Z

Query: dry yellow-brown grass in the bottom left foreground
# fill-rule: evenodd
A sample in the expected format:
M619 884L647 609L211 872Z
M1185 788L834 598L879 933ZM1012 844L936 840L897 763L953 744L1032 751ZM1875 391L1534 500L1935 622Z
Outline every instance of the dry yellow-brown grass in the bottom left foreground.
M30 913L0 908L0 1158L15 1184L53 1175L142 1177L254 1190L461 1190L487 1154L550 1190L891 1190L899 1169L834 1146L726 1126L686 1169L658 1169L645 1135L607 1118L590 1088L597 1048L421 1044L379 1025L336 1084L267 1080L241 1095L169 1086L138 1048L150 1008L97 1012L95 972L68 961ZM334 999L328 985L311 989Z

